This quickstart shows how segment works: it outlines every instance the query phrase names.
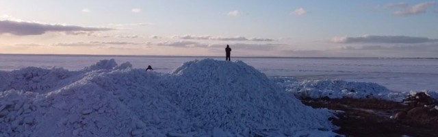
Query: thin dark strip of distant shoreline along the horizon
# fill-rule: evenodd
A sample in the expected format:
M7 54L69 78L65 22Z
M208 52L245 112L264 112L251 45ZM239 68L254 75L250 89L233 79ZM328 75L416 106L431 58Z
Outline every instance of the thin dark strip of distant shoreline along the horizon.
M90 55L90 54L15 54L0 53L0 55L24 55L24 56L64 56L64 57L157 57L157 58L223 58L223 56L203 56L203 55ZM330 58L330 59L427 59L438 60L438 58L376 58L376 57L272 57L272 56L235 56L233 58Z

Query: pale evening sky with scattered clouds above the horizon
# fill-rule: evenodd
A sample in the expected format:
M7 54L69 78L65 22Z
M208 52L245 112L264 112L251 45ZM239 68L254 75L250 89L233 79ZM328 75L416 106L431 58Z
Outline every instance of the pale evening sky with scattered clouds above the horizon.
M0 0L0 53L438 58L436 1Z

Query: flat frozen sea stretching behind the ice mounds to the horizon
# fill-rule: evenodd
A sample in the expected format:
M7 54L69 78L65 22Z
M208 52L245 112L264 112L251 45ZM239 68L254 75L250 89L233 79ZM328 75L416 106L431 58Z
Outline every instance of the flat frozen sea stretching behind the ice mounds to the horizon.
M119 64L130 62L133 68L151 65L154 71L170 72L183 62L222 57L123 56L123 55L6 55L0 54L0 71L27 66L45 69L83 69L99 60L114 58ZM438 59L411 58L231 58L268 75L296 79L344 79L350 82L374 82L395 92L438 91Z

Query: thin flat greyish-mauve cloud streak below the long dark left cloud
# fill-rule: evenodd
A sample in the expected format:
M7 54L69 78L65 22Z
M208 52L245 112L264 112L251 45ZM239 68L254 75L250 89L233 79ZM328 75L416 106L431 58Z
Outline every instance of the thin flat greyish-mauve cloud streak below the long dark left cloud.
M53 46L60 47L92 47L105 45L147 45L147 42L125 42L125 41L89 41L89 42L60 42Z

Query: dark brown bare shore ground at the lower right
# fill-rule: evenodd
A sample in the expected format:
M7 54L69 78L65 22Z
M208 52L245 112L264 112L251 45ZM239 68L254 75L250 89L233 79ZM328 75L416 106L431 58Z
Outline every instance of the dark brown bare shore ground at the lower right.
M409 110L410 106L398 102L344 98L305 99L302 103L313 108L341 110L337 114L339 119L332 122L340 127L335 132L346 136L438 136L436 118L390 119L397 112Z

